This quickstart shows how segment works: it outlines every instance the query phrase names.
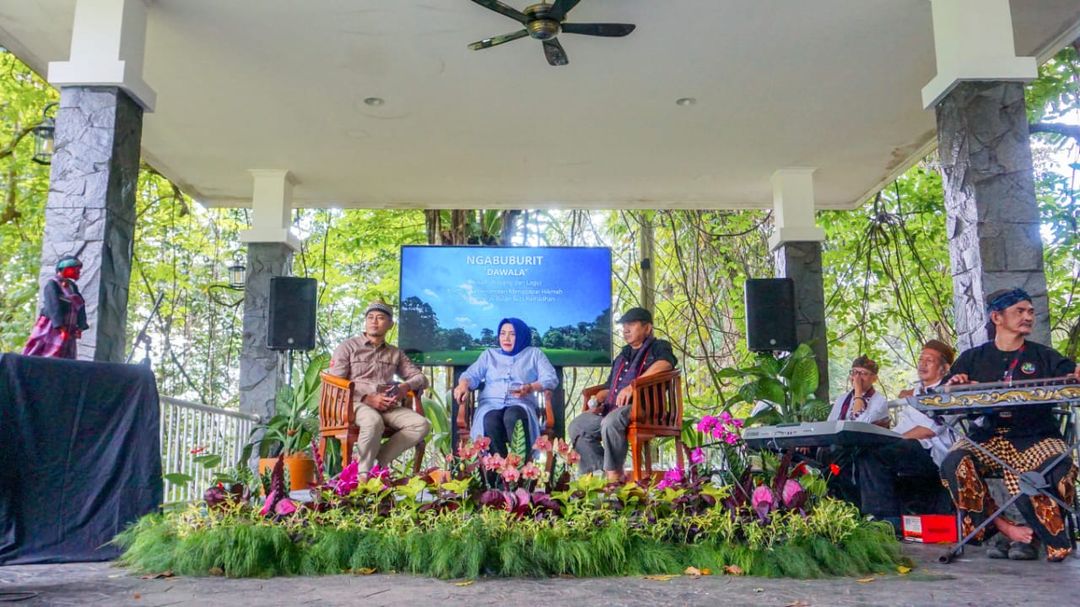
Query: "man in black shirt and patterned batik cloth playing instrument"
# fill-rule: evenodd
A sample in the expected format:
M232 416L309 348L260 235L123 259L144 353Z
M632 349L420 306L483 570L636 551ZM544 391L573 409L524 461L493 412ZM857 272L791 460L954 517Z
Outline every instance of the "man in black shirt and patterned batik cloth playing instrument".
M986 299L986 311L995 329L993 339L960 354L946 383L1077 376L1076 363L1052 348L1027 339L1035 324L1035 307L1024 289L991 293ZM1008 470L1002 471L997 462L977 450L971 442L983 445L1022 474L1041 472L1051 491L1066 503L1072 503L1077 469L1071 458L1066 457L1052 470L1042 470L1044 464L1068 450L1053 408L1052 404L1024 405L988 415L968 437L957 441L941 468L942 480L960 511L963 535L974 530L997 510L984 476L1003 472L1009 494L1015 496L1020 493L1016 476ZM1062 561L1071 552L1062 511L1053 500L1043 495L1024 495L1016 501L1016 507L1023 514L1023 522L998 516L994 525L980 532L975 540L1001 531L1014 542L1014 549L1011 549L1011 558L1034 558L1036 551L1030 545L1034 539L1045 545L1049 561Z

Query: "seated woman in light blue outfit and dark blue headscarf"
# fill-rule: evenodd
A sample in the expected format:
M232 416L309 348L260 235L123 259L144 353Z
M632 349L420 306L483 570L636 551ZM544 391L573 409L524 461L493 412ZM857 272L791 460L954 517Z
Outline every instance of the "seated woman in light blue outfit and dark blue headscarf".
M528 457L531 445L540 436L536 392L554 390L558 386L555 368L539 348L534 348L529 327L519 319L499 321L499 347L488 348L469 366L454 397L464 403L470 390L481 388L476 399L469 435L491 439L491 453L503 457L518 422L525 426L528 440L523 456Z

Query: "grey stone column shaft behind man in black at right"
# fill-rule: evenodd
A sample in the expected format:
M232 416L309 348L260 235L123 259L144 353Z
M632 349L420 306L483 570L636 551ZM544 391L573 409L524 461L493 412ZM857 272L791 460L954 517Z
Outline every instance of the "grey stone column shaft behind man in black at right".
M1031 339L1050 343L1024 85L962 82L936 113L957 346L986 341L986 295L1016 286L1037 311Z

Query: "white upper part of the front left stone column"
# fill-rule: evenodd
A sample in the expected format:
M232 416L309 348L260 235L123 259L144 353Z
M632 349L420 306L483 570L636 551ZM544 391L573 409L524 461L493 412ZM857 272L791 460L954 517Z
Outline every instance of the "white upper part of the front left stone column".
M146 52L145 0L77 0L71 53L49 64L55 86L118 86L143 111L153 111L157 94L143 80Z

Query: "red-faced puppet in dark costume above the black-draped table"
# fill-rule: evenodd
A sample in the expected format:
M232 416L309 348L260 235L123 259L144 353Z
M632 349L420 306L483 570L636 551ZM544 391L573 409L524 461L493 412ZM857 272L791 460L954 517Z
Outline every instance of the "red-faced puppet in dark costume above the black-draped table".
M41 288L41 313L23 348L23 354L77 358L77 341L82 332L90 328L86 305L76 284L81 274L82 261L77 257L62 257L56 262L56 274L50 276Z

